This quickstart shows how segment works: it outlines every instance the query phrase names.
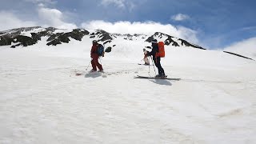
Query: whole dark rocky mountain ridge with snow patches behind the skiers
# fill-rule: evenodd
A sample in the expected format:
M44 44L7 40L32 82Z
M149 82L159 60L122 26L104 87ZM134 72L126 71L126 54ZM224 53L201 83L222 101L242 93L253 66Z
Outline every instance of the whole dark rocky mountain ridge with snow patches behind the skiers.
M36 44L38 41L41 41L42 37L47 38L47 46L56 46L62 43L69 43L70 38L82 41L84 36L89 37L91 41L93 39L97 39L98 42L102 42L103 44L108 42L111 43L113 39L116 38L123 38L123 40L127 41L140 40L145 42L151 42L153 38L156 38L165 42L167 46L190 46L192 48L204 49L201 46L186 42L184 39L175 38L168 34L162 34L159 32L156 32L151 36L147 36L145 34L110 34L104 30L60 30L54 27L42 28L40 26L19 28L0 32L0 46L10 45L12 48L15 48L16 46L31 46ZM111 44L114 45L113 43Z

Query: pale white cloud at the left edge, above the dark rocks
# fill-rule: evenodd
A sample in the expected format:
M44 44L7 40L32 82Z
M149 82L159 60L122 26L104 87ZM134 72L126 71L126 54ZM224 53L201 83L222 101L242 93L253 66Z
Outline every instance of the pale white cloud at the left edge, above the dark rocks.
M18 27L37 26L37 22L22 21L15 14L7 11L0 11L0 30L10 30Z

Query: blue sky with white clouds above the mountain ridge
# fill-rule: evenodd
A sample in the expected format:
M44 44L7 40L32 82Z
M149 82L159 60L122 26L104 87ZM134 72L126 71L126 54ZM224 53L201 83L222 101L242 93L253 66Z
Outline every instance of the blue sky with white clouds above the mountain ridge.
M0 30L21 26L160 31L207 49L256 37L254 0L1 0Z

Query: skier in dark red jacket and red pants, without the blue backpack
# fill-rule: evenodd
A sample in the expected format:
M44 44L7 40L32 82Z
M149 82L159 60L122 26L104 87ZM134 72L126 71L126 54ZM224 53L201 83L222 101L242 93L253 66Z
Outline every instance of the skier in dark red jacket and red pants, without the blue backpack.
M97 54L97 49L98 49L98 42L96 40L94 40L93 46L91 46L91 50L90 50L90 58L92 58L91 66L93 67L93 70L90 70L90 72L97 71L97 67L98 67L99 72L103 72L102 65L98 62L99 56Z

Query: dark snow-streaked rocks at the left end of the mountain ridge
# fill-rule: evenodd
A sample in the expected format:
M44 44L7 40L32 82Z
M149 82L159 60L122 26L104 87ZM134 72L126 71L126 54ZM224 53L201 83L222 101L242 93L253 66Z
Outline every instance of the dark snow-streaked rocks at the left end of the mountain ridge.
M42 29L38 32L31 32L31 37L22 35L22 32L33 31L35 29ZM82 29L74 29L71 32L67 33L57 33L54 34L54 31L58 30L54 27L48 27L43 29L42 27L22 27L19 29L12 29L2 31L0 34L0 46L8 46L12 45L11 48L15 48L16 46L31 46L41 41L42 37L49 37L47 39L47 45L56 46L58 44L62 44L62 42L68 43L70 42L70 38L74 38L75 40L82 41L83 36L90 34L87 30Z

